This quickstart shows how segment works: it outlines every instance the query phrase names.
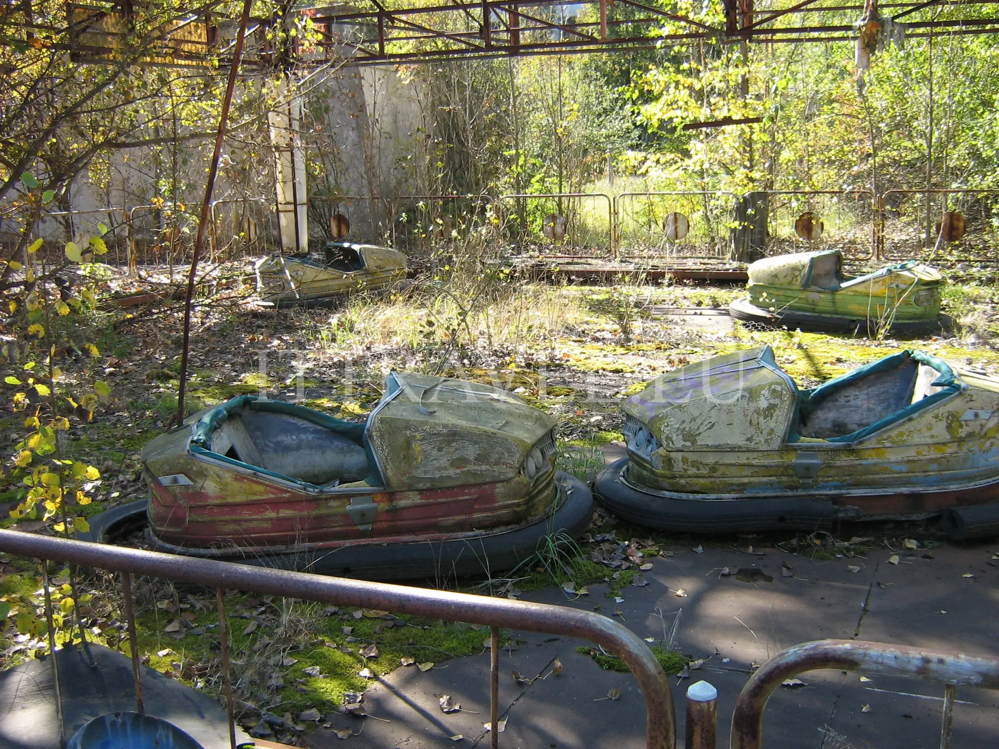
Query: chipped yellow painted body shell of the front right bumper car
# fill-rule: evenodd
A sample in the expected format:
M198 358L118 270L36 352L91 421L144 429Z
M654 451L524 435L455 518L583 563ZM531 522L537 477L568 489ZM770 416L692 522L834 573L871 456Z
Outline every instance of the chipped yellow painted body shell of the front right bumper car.
M796 394L760 366L765 351L733 352L681 368L628 398L625 413L658 440L650 453L629 442L629 480L671 492L727 495L946 488L999 471L999 380L950 363L962 390L909 419L856 443L787 441ZM994 415L965 420L969 410ZM821 461L812 478L795 472L802 452Z

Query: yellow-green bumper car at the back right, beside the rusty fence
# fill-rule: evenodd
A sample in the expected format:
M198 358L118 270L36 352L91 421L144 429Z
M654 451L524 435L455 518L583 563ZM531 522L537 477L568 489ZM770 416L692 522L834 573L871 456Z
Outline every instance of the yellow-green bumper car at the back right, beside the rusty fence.
M940 331L939 272L916 261L851 278L838 250L778 255L749 266L748 296L729 306L736 320L817 331Z

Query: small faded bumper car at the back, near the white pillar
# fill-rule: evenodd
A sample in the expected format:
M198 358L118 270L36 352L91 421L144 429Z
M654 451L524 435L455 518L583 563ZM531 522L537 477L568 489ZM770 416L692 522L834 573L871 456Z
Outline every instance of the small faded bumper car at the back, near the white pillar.
M274 255L254 265L263 305L321 307L406 278L406 256L378 245L328 242L322 258Z

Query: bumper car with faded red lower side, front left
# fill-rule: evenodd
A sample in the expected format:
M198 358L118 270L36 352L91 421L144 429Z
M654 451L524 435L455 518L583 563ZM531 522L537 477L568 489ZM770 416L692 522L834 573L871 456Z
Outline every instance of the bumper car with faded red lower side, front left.
M577 537L592 497L554 469L554 421L489 385L393 373L366 423L243 395L143 450L146 500L91 522L136 523L160 551L369 579L511 569Z

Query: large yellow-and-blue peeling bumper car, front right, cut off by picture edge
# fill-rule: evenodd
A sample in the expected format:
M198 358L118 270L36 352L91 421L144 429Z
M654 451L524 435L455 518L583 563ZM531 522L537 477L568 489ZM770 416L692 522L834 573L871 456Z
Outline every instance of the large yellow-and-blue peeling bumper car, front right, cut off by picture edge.
M616 515L680 531L814 529L943 513L999 533L999 379L905 351L799 390L770 347L688 365L624 405Z

